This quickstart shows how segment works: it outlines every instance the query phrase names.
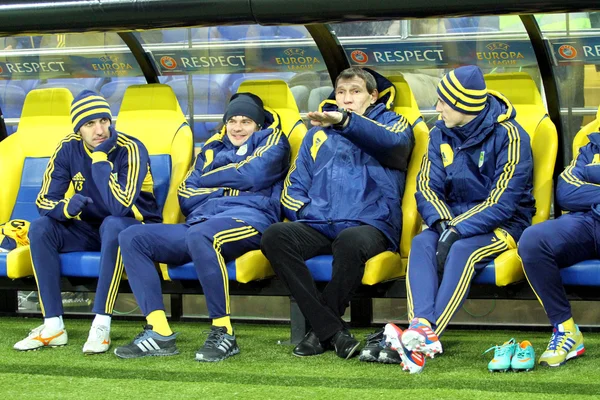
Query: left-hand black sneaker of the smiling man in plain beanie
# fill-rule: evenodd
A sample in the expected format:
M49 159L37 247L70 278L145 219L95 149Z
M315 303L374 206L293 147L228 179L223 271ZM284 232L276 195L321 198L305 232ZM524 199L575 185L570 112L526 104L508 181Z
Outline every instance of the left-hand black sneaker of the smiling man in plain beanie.
M174 356L179 354L175 345L175 337L177 337L176 333L169 336L159 335L152 330L152 325L146 325L131 343L117 347L115 355L120 358Z

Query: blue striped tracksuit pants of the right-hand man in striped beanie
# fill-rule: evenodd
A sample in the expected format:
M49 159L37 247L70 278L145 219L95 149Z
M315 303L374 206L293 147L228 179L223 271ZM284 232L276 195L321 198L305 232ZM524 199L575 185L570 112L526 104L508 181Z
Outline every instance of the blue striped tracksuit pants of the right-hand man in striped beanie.
M514 248L512 238L487 233L459 239L450 248L442 281L438 281L436 250L439 234L427 229L411 244L406 273L408 317L425 318L439 336L469 294L471 281L490 261Z

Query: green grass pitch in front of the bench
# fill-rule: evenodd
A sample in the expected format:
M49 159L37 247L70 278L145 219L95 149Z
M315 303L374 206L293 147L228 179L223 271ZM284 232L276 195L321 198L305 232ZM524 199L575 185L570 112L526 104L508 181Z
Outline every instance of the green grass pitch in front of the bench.
M309 358L277 344L289 338L286 325L237 323L241 353L220 363L199 363L195 351L206 323L174 323L180 355L118 359L111 350L84 356L90 320L66 319L69 344L17 352L12 345L41 319L0 318L0 400L9 399L598 399L600 334L585 333L586 354L559 368L490 373L493 352L511 337L530 340L539 357L549 332L459 331L442 338L444 354L427 359L420 375L398 365L345 361L333 352ZM113 348L141 331L141 322L114 321ZM364 342L372 329L354 329Z

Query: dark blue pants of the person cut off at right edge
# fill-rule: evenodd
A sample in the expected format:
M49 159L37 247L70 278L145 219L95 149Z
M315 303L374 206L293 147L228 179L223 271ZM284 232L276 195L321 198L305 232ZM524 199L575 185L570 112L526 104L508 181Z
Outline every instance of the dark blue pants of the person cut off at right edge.
M600 221L593 212L565 214L533 225L519 240L525 276L552 325L572 317L560 269L598 258Z

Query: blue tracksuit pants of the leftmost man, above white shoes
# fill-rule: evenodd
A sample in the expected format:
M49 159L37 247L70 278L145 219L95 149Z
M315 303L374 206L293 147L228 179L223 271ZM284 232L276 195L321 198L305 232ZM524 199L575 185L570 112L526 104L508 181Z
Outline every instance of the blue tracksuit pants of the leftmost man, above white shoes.
M63 314L59 253L74 251L100 251L93 312L112 314L123 274L118 235L131 225L141 225L141 222L129 217L109 216L100 226L80 220L57 221L50 217L41 217L31 223L31 260L45 318Z

